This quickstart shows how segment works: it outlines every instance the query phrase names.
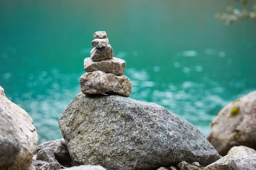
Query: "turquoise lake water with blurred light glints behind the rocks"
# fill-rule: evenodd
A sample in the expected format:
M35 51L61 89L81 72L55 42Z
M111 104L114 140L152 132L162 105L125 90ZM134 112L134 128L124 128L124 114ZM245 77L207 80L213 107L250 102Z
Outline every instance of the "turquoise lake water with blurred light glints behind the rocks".
M218 111L256 87L256 24L215 20L233 0L0 0L0 85L39 143L80 92L83 59L106 31L131 98L164 106L206 136Z

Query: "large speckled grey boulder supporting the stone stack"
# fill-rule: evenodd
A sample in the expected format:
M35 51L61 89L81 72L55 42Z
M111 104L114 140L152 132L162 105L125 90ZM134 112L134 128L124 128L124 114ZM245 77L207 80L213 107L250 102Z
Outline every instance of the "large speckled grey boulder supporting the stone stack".
M75 165L156 170L183 160L207 165L219 159L194 125L154 103L79 93L58 123Z

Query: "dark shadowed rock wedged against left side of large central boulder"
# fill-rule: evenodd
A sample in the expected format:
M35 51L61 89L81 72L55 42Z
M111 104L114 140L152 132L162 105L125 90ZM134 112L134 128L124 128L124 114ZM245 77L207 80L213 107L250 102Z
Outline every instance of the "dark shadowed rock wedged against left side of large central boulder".
M57 139L55 141L44 142L37 147L37 152L45 147L52 148L56 160L64 167L73 166L73 161L67 149L64 139Z

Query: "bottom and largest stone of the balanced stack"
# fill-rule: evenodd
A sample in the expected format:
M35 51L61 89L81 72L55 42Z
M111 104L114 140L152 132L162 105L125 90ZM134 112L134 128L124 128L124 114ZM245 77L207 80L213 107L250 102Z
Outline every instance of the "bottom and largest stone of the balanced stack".
M131 94L131 80L126 76L93 71L80 77L80 88L83 94L104 93L128 97Z

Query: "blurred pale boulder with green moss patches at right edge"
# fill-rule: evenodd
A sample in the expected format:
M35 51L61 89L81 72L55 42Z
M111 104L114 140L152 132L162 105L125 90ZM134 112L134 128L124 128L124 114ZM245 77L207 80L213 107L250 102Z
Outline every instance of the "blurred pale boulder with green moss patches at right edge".
M256 149L256 91L225 106L212 121L208 141L221 155L233 146Z

